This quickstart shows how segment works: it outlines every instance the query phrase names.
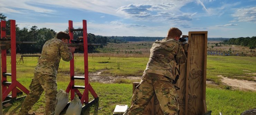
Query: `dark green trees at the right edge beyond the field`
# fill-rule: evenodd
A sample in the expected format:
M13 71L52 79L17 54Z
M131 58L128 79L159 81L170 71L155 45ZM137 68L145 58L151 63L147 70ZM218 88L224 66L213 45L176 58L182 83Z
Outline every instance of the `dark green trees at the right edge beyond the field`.
M256 36L253 36L251 38L231 38L229 40L224 40L222 44L248 46L249 49L256 49Z

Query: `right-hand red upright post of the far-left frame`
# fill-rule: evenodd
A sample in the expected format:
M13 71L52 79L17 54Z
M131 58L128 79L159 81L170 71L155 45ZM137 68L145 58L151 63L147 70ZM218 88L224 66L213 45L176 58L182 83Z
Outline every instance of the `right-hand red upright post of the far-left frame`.
M16 82L16 22L11 20L11 82ZM16 84L15 84L16 85ZM12 98L17 97L17 87L11 92Z

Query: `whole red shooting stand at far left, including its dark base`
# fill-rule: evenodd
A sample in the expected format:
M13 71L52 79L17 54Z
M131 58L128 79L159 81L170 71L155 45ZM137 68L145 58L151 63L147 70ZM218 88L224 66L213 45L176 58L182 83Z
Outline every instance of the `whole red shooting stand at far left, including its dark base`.
M1 20L1 85L2 85L2 104L13 103L21 100L26 96L17 98L22 92L28 94L26 87L16 80L16 21L11 20L10 29L6 28L6 21ZM11 35L6 35L6 31L10 30ZM9 39L10 37L10 39ZM6 51L11 48L11 73L7 73ZM7 81L7 76L11 76L11 82ZM18 88L20 89L18 89ZM22 91L22 92L21 92ZM11 92L11 94L9 94Z

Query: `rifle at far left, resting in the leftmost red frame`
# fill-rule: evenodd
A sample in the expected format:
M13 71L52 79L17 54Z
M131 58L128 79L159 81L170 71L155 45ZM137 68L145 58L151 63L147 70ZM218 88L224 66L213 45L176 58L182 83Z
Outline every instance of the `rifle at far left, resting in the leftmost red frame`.
M7 37L0 39L0 46L1 46L2 50L9 50L11 48L11 39L7 38ZM37 42L16 41L16 45L18 45L18 44L34 44L34 43L37 43ZM19 48L19 45L16 48Z

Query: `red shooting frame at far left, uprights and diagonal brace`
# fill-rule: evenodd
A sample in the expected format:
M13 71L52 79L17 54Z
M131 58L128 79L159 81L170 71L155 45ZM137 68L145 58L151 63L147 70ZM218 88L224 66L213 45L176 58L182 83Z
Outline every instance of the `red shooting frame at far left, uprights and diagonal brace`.
M16 80L16 22L15 20L11 21L11 74L7 73L7 65L6 65L6 49L1 49L1 61L2 61L2 100L4 101L8 94L11 93L11 98L17 98L17 93L23 91L28 94L29 91L26 87L21 85ZM1 21L1 39L6 38L6 21ZM11 76L11 83L7 82L7 76ZM7 88L8 87L8 88ZM17 87L19 89L17 89Z

